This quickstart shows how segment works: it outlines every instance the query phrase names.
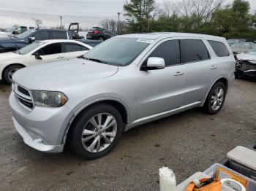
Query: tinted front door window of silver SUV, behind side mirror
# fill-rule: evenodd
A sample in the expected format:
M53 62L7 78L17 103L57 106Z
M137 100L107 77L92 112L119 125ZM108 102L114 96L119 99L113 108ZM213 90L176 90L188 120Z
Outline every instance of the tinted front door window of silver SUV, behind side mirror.
M149 57L164 58L165 66L180 63L180 50L178 40L170 40L159 44ZM148 58L149 58L148 57Z

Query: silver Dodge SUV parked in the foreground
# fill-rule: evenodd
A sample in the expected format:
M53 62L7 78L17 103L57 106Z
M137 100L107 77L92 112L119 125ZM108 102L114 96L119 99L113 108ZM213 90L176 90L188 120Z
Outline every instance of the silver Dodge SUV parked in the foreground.
M17 71L12 120L42 152L97 158L123 131L194 107L217 114L234 79L227 41L201 34L129 34L83 57Z

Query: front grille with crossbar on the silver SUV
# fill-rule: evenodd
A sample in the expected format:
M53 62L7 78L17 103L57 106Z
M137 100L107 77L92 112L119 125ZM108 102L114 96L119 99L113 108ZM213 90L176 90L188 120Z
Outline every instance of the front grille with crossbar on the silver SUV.
M34 108L34 104L33 104L31 95L29 93L29 90L27 90L24 87L21 87L20 85L15 85L14 92L20 104L22 104L23 106L26 106L26 108L29 108L29 109Z

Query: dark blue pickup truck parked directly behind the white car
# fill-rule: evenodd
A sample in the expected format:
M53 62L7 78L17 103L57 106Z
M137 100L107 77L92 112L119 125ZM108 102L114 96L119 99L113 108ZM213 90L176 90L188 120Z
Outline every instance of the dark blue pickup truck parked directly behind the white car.
M11 52L25 47L34 41L42 41L48 39L77 39L80 42L86 43L91 47L95 47L100 41L79 39L74 35L74 31L58 30L58 29L38 29L26 31L23 34L17 36L8 36L6 38L0 38L0 53Z

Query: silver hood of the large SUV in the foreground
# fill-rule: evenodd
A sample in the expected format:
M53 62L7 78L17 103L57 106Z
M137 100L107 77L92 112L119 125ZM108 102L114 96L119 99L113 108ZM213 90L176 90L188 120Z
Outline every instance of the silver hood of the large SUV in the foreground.
M73 58L20 69L12 78L30 90L61 90L110 77L117 71L118 66Z

